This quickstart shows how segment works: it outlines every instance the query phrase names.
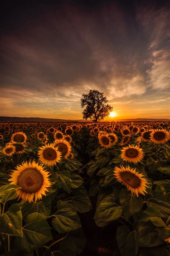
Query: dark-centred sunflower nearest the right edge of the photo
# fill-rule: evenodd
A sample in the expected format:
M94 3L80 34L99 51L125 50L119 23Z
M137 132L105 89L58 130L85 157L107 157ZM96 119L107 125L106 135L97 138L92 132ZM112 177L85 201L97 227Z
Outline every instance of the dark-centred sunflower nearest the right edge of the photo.
M151 133L151 141L156 144L161 144L169 140L169 133L165 130L154 130Z

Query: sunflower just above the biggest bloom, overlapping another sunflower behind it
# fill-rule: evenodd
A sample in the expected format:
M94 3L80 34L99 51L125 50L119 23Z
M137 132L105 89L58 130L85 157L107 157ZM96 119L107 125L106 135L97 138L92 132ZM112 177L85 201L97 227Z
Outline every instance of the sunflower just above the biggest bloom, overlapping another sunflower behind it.
M58 148L52 144L48 144L39 148L38 151L39 160L48 166L56 165L61 160L61 153Z

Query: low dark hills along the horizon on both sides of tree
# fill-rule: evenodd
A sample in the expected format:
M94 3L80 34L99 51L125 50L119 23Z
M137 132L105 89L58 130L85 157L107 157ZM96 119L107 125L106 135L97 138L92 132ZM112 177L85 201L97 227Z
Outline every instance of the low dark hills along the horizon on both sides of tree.
M114 119L113 121L119 122L138 122L138 121L166 121L170 122L170 119L166 118L136 118L136 119ZM55 118L40 118L40 117L16 117L16 116L0 116L0 122L90 122L83 119L67 120L67 119L55 119Z

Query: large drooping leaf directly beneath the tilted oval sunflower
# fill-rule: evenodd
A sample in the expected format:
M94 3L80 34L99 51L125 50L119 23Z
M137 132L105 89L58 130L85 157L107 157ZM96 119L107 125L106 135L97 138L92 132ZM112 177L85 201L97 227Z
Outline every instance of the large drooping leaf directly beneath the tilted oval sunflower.
M122 189L120 203L126 220L128 220L135 212L140 211L143 207L143 199L132 195L127 189Z

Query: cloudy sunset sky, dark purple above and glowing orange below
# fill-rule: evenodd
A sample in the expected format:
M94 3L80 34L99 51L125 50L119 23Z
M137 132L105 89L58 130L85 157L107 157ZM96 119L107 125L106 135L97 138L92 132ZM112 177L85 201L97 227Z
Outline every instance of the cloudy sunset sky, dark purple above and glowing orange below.
M82 119L96 89L115 118L170 118L168 1L6 2L0 116Z

